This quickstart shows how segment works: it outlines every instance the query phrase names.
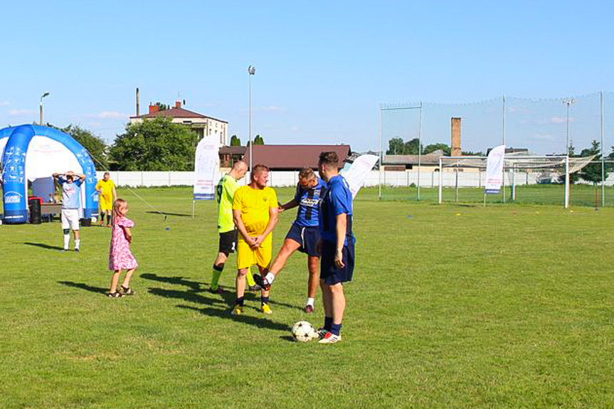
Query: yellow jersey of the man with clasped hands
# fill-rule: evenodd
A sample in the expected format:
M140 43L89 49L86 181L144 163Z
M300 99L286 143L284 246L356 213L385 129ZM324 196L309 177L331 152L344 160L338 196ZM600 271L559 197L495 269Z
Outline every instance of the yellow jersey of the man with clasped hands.
M241 211L241 219L249 235L264 233L269 223L269 209L276 207L277 195L268 186L263 189L240 187L233 198L233 211Z

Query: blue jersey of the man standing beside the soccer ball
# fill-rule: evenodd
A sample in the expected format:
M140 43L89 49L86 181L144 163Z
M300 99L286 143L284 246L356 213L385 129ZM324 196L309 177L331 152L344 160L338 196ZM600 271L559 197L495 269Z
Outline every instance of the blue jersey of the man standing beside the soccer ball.
M347 245L348 238L354 241L351 232L351 191L344 177L337 175L330 179L319 208L319 231L325 242L337 243L337 216L341 213L347 215L345 236Z

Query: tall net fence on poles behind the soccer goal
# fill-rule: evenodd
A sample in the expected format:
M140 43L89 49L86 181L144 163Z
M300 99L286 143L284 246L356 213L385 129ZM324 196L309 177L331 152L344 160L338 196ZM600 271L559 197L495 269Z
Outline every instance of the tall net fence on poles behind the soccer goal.
M452 154L452 118L460 118L460 148L465 156L485 156L500 144L506 145L507 156L510 152L569 154L573 161L594 155L593 161L571 174L569 203L614 206L614 92L540 100L506 96L463 104L381 105L382 199L438 201L439 157ZM443 173L445 202L484 201L484 169L459 166ZM551 172L508 169L506 162L506 186L500 195L488 196L487 203L562 204L563 179L564 168Z

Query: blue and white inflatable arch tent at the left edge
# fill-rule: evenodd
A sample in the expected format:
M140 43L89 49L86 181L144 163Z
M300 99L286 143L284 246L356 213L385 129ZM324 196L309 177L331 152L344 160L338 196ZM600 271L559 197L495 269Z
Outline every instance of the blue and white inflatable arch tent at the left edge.
M38 125L4 128L0 129L0 152L4 223L28 221L26 181L70 170L85 174L85 183L81 186L83 217L90 218L97 213L94 163L88 151L70 135Z

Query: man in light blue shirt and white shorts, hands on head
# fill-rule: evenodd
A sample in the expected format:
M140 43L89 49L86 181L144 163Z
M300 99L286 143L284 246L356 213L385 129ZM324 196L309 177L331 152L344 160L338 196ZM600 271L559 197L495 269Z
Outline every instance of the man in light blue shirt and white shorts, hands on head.
M81 185L84 174L68 171L65 174L53 174L53 179L62 186L62 230L64 233L64 251L68 250L70 230L75 235L75 251L80 249L79 208L81 205Z

